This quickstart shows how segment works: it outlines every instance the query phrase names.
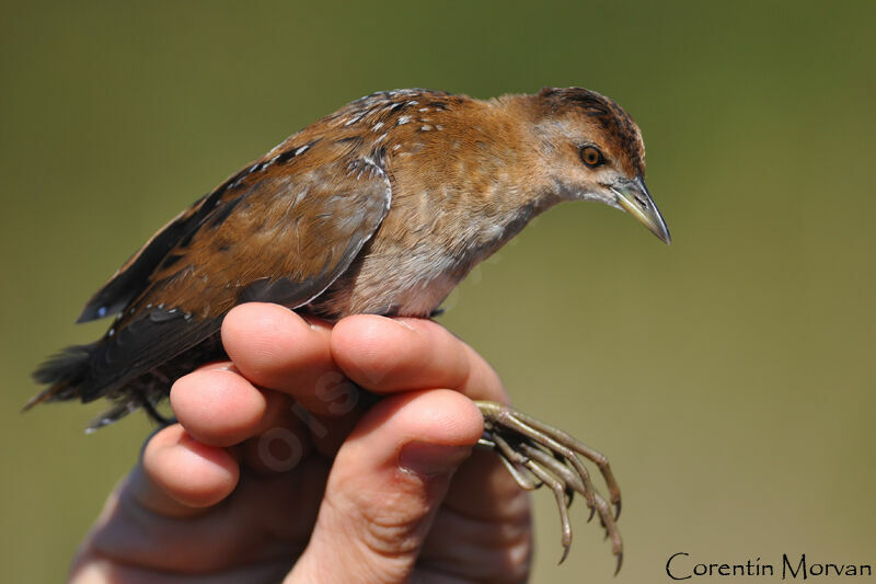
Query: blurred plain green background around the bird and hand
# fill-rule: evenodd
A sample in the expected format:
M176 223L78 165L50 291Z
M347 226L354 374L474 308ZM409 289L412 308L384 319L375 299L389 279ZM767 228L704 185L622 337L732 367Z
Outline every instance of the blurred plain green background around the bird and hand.
M781 553L876 564L873 2L10 3L0 22L0 580L57 582L150 426L21 415L90 341L91 293L249 160L362 94L545 84L642 126L661 245L596 205L539 218L441 319L519 406L606 451L626 562L586 509L533 582L664 582ZM723 579L723 582L734 579Z

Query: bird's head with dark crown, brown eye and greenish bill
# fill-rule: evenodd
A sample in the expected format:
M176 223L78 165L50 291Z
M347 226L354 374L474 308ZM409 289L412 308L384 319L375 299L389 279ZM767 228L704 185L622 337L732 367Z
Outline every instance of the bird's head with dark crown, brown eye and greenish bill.
M534 138L554 194L623 209L669 243L669 229L645 186L645 145L633 118L581 88L544 88L535 105Z

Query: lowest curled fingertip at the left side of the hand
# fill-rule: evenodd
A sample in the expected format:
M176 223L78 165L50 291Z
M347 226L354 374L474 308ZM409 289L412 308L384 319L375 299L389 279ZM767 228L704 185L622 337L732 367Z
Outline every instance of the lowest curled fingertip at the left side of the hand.
M238 462L226 449L200 444L173 424L147 443L131 489L149 509L188 516L226 499L239 478Z

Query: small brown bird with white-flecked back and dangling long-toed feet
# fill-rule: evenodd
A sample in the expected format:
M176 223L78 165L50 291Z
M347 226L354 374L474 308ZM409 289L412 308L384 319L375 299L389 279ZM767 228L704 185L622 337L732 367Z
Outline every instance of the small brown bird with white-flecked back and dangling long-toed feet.
M26 408L106 397L91 428L154 405L178 377L224 358L235 305L266 301L336 320L429 317L480 261L563 201L621 208L669 243L644 183L645 148L613 101L580 88L481 101L422 89L374 93L320 119L238 172L155 233L88 302L115 316L95 343L34 374ZM574 492L621 559L616 514L577 455L620 490L604 456L506 405L479 403L481 440L525 489L546 484L563 524ZM562 561L562 560L561 560Z

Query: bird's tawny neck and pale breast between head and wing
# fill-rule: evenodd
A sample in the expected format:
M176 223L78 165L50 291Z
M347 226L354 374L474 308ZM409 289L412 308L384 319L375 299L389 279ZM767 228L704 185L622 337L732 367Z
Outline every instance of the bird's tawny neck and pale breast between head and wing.
M450 111L422 101L405 102L419 107L416 125L408 107L378 128L392 127L379 136L390 209L349 268L311 305L316 312L427 317L545 207L541 191L520 180L527 160L508 146L520 137L495 107L469 101ZM355 114L350 128L372 122Z

